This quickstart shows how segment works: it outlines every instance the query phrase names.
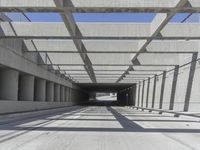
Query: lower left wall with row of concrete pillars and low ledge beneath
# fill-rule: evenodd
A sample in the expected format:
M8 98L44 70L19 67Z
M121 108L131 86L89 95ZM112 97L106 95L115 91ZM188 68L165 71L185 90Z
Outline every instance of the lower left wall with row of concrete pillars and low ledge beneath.
M85 103L88 99L89 94L81 89L1 66L0 114L70 106Z

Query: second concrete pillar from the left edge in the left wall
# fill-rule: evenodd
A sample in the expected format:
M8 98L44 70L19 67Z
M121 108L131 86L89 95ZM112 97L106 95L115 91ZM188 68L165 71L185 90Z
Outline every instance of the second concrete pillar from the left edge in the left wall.
M34 100L34 76L22 74L19 76L19 95L21 101Z

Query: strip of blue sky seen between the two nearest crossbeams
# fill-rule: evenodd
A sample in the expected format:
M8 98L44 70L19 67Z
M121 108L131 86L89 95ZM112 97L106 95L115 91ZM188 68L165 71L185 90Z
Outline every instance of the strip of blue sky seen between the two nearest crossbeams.
M25 21L20 13L8 13L14 21ZM26 13L33 22L62 22L58 13ZM151 22L154 13L74 13L77 22ZM177 14L171 22L181 22L187 13Z

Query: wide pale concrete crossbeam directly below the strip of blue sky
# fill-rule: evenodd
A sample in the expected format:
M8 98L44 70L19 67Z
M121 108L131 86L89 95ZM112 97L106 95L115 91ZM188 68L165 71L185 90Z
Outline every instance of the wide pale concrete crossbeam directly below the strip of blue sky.
M138 44L138 51L144 49L153 39L199 39L200 24L169 23L173 16L159 14L152 23L72 23L72 16L63 16L64 23L45 22L1 22L0 38L22 39L70 39L80 52L85 52L82 39L132 40L143 39ZM165 19L163 19L165 18ZM160 25L160 26L159 26ZM72 26L72 27L71 27ZM66 29L67 27L67 29ZM80 29L79 29L80 28ZM25 30L29 29L29 30ZM31 32L30 32L31 31ZM157 36L162 34L162 36ZM142 50L143 49L143 50ZM103 50L103 49L102 49Z

